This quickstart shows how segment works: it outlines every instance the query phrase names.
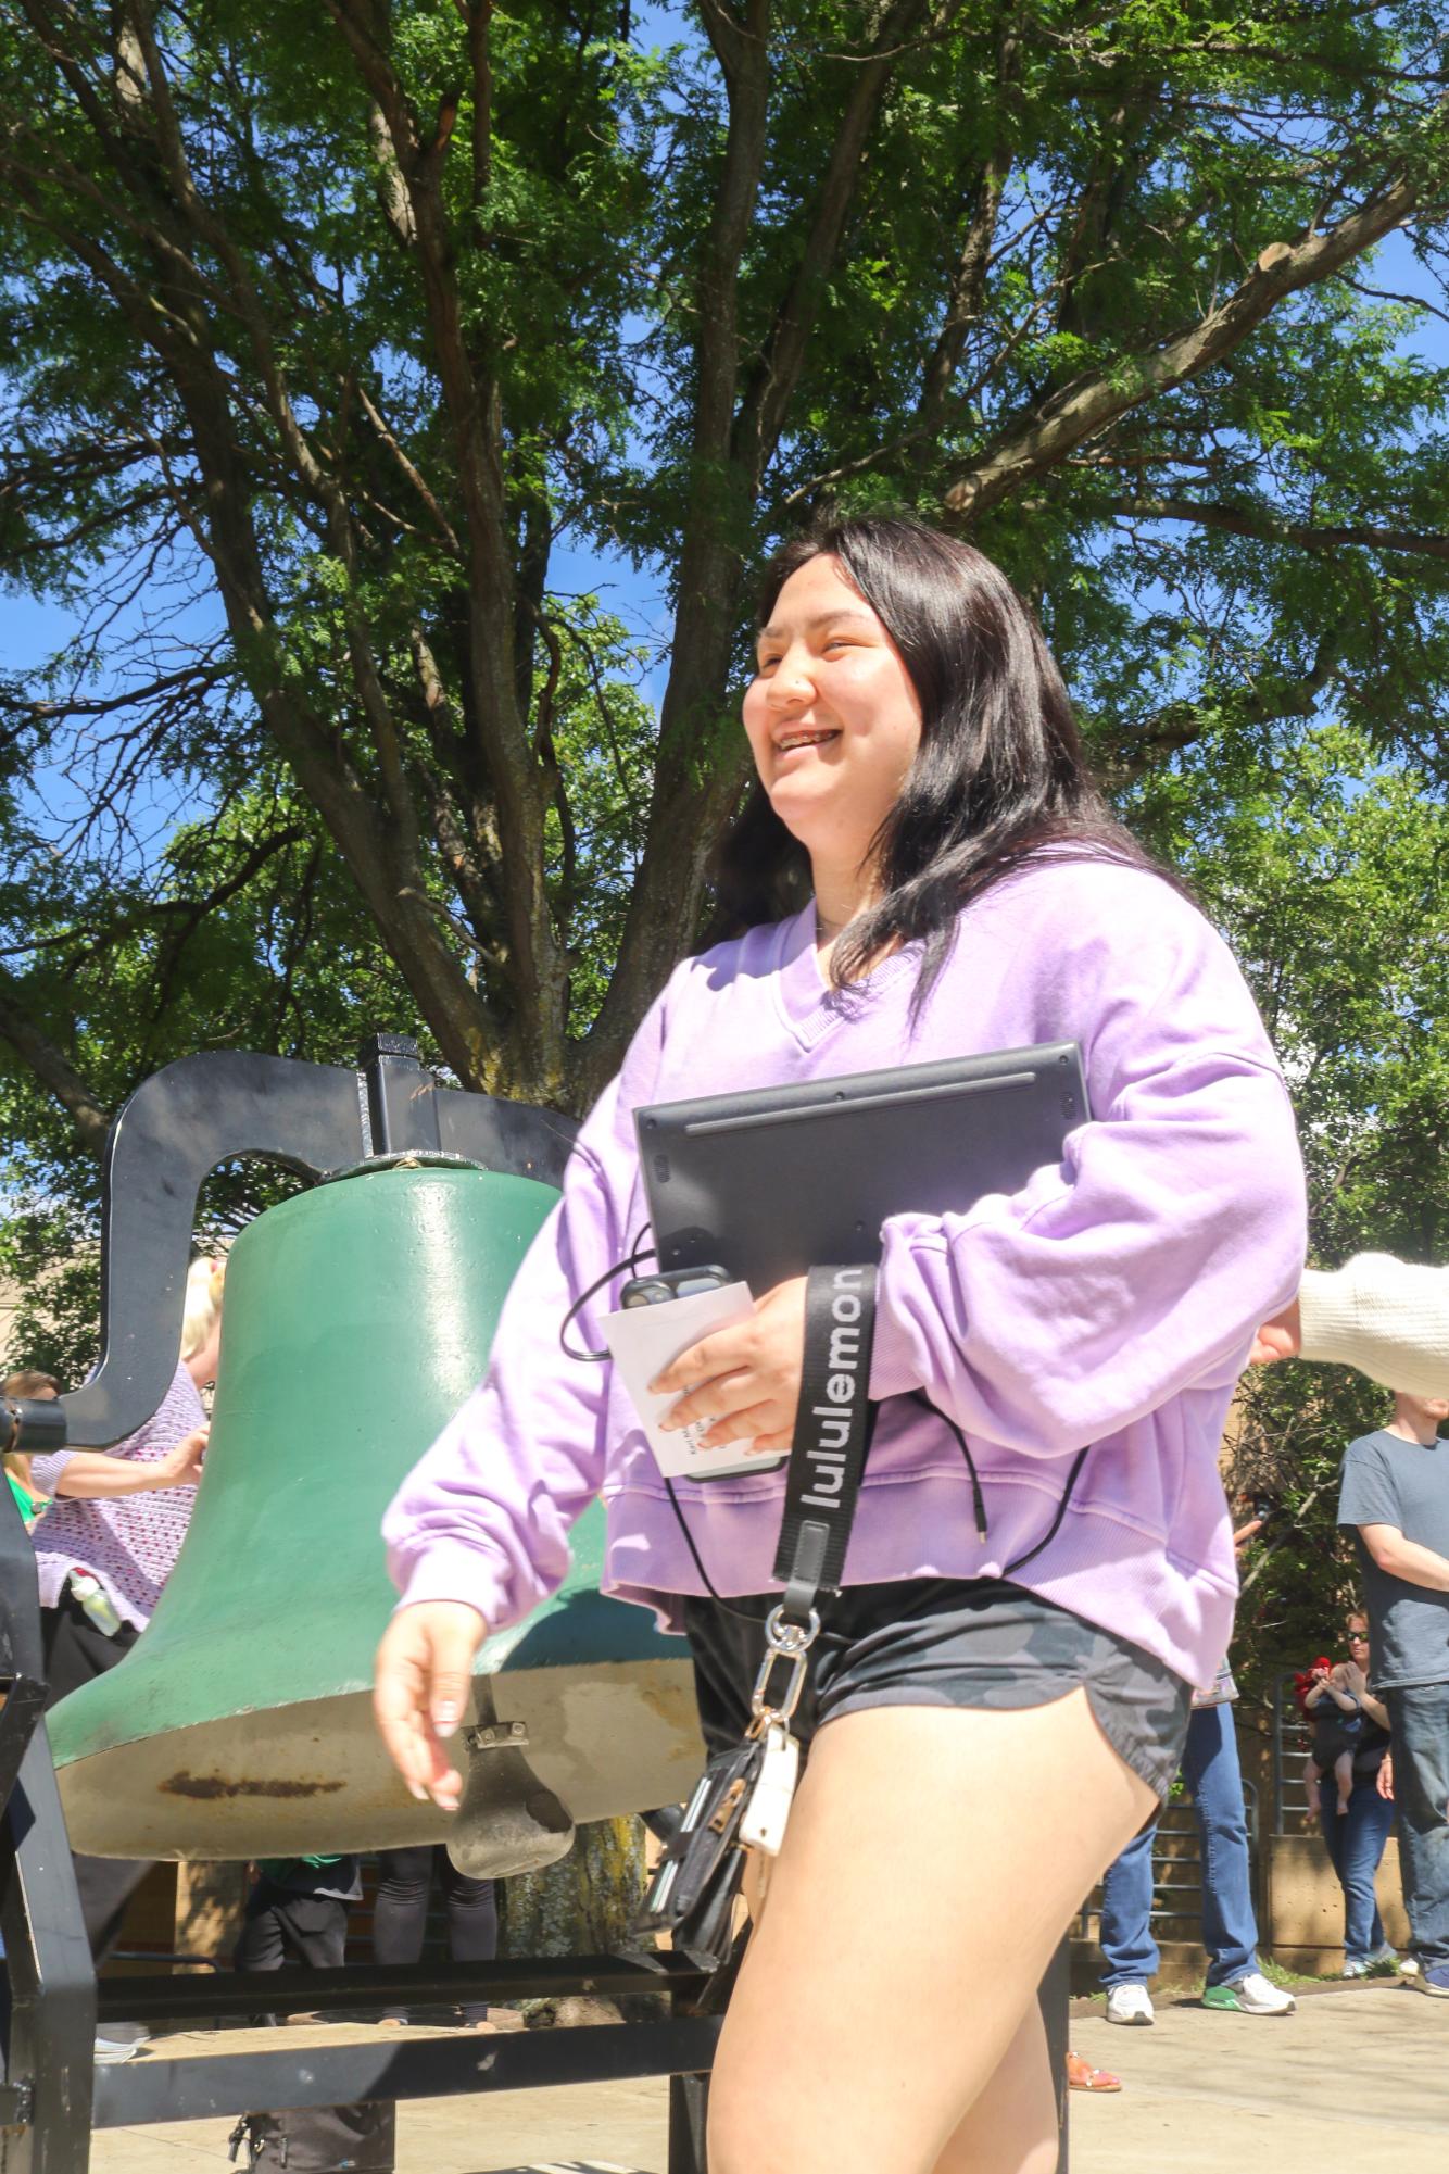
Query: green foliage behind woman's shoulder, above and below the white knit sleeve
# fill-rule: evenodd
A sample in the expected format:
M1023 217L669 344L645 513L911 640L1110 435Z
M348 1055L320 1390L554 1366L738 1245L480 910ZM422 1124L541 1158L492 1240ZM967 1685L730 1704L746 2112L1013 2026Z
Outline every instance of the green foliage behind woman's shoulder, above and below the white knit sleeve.
M1132 796L1197 885L1282 1054L1308 1167L1314 1265L1449 1257L1449 809L1345 726L1217 733ZM1245 1565L1234 1661L1249 1700L1338 1650L1356 1598L1338 1537L1345 1446L1390 1400L1347 1367L1245 1376L1230 1487L1277 1504Z

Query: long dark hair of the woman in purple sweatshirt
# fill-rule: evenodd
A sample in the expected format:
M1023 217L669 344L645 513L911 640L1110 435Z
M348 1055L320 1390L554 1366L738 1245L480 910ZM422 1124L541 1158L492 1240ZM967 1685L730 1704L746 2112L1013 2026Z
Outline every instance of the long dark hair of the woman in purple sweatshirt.
M886 946L921 939L919 1007L947 961L960 909L1045 846L1054 857L1164 876L1101 798L1062 674L991 559L921 522L823 522L769 561L760 626L791 574L821 552L878 613L921 702L921 746L869 852L882 896L839 939L836 985ZM715 939L780 920L810 894L810 859L758 780L713 876Z

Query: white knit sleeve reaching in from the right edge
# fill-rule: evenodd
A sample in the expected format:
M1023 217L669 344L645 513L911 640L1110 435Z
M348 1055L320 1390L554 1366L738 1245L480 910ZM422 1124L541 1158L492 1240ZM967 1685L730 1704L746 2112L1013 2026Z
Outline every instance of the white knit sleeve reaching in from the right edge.
M1306 1270L1299 1322L1303 1359L1408 1396L1449 1396L1449 1267L1360 1252L1332 1274Z

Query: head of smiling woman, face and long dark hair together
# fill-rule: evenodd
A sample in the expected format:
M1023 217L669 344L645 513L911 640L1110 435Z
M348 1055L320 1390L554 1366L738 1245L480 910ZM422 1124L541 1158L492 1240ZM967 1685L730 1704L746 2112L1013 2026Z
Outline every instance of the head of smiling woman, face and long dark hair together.
M973 898L1043 846L1151 870L1086 770L1036 620L969 544L895 520L789 544L745 694L756 785L715 861L713 935L812 887L836 985L923 944L923 1002ZM815 752L786 754L806 735ZM819 739L817 739L819 735Z

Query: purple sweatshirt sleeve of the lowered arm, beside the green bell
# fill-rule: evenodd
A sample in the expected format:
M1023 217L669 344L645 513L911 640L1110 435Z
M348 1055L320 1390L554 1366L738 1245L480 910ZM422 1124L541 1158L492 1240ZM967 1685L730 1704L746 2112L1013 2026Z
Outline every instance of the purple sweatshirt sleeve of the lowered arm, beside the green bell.
M576 1296L628 1257L632 1111L656 1072L663 998L578 1135L563 1198L524 1257L489 1372L413 1467L382 1520L402 1607L465 1600L491 1630L519 1622L563 1583L569 1526L604 1480L608 1367L569 1359L558 1328ZM650 1054L652 1052L652 1054ZM569 1341L602 1346L606 1285Z

